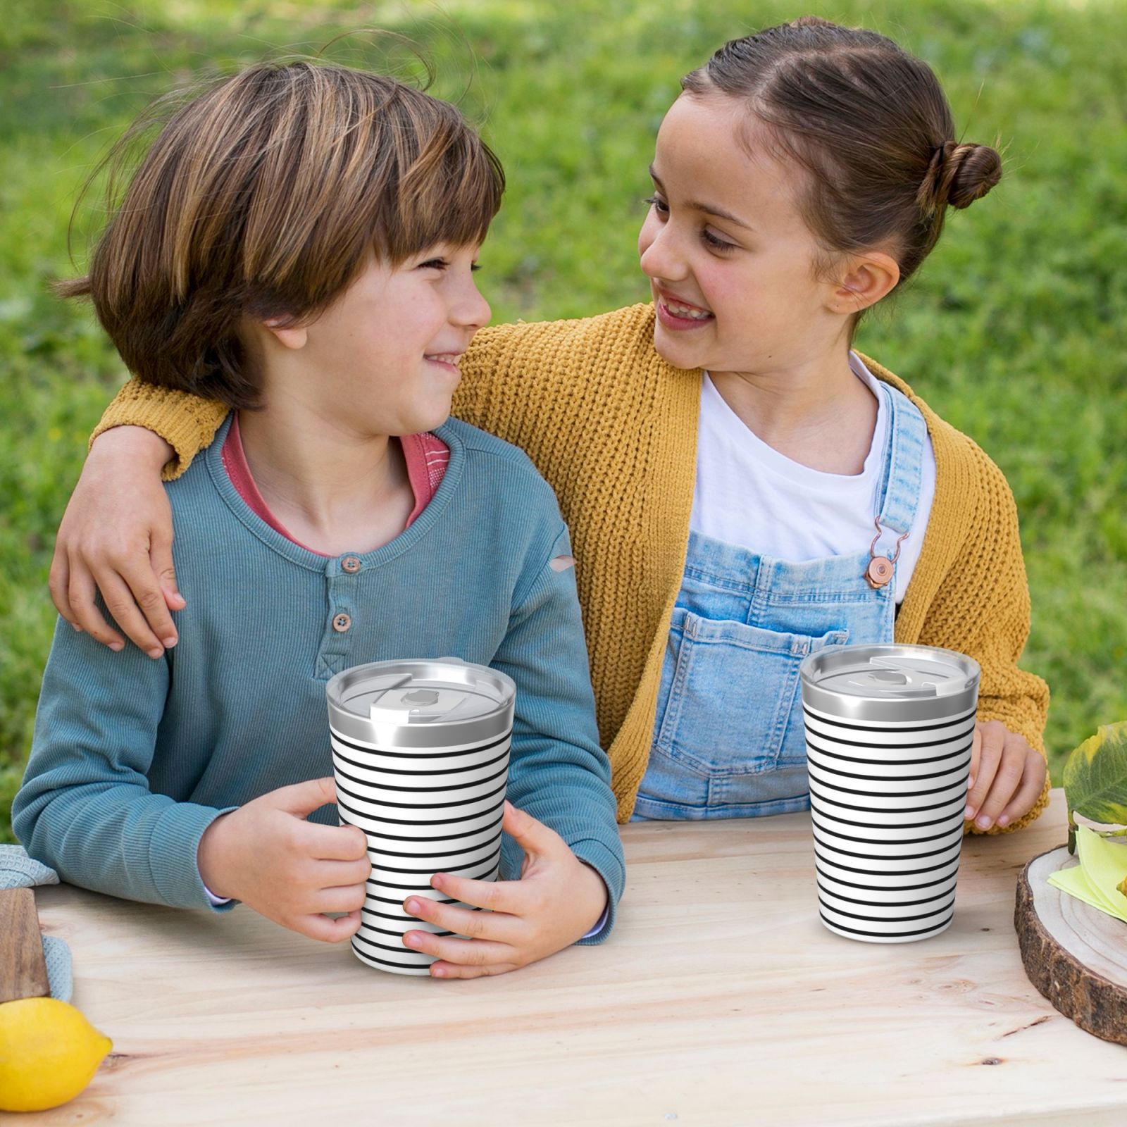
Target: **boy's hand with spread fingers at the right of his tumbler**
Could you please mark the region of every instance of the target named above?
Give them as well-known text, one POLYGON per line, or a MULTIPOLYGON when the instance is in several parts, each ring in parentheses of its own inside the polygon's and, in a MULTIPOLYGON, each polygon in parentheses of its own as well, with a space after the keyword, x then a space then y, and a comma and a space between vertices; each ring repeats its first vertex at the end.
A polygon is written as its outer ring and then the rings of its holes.
POLYGON ((603 878, 584 864, 567 842, 543 823, 505 804, 502 828, 524 850, 520 880, 467 880, 435 873, 431 885, 464 904, 438 904, 425 896, 409 896, 403 906, 419 920, 472 939, 409 931, 405 946, 435 955, 435 978, 477 978, 547 958, 582 939, 606 906, 603 878))

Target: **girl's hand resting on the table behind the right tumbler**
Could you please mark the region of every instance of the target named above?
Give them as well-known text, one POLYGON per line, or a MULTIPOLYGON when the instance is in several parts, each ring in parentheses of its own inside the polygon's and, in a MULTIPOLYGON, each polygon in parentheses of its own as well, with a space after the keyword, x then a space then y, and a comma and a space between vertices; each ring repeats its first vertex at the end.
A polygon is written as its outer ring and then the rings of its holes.
POLYGON ((1008 826, 1033 808, 1045 786, 1045 756, 1000 720, 979 720, 970 747, 965 817, 976 829, 1008 826))

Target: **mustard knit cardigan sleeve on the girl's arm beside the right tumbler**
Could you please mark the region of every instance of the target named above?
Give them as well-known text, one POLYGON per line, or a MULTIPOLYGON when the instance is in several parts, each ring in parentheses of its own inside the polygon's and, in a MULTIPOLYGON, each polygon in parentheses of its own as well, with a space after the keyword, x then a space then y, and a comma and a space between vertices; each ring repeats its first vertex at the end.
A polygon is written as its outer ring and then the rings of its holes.
MULTIPOLYGON (((1048 685, 1018 667, 1030 618, 1018 511, 1002 471, 982 450, 969 445, 980 488, 976 504, 965 511, 967 535, 935 593, 920 641, 974 657, 982 666, 978 719, 1000 720, 1044 755, 1048 685)), ((1046 775, 1033 808, 1001 832, 1032 822, 1048 802, 1048 790, 1046 775)))

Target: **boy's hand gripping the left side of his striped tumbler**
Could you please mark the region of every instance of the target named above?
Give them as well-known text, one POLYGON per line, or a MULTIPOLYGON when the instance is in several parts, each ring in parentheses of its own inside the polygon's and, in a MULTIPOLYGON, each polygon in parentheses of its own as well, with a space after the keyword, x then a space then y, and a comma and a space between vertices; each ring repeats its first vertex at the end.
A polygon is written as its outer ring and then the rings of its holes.
POLYGON ((312 779, 221 815, 199 840, 204 884, 310 939, 348 939, 360 928, 364 881, 372 872, 367 840, 356 826, 305 820, 336 800, 332 779, 312 779), (322 912, 348 915, 330 920, 322 912))

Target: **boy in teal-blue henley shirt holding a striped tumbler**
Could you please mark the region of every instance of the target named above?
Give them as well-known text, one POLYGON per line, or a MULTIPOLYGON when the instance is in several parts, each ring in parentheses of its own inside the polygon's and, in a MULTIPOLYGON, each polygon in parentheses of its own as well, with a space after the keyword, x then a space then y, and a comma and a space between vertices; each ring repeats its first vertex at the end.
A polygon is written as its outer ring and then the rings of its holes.
POLYGON ((446 421, 489 318, 471 272, 503 186, 452 106, 300 62, 213 86, 141 162, 64 290, 92 295, 149 387, 215 397, 224 418, 168 488, 201 603, 177 647, 149 660, 55 631, 12 825, 63 879, 178 907, 242 899, 347 938, 371 863, 319 778, 326 682, 453 655, 517 684, 513 880, 474 879, 480 858, 436 876, 437 899, 405 903, 434 931, 402 942, 437 957, 433 975, 471 977, 601 916, 606 934, 623 864, 567 530, 520 451, 446 421))

